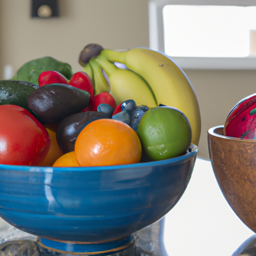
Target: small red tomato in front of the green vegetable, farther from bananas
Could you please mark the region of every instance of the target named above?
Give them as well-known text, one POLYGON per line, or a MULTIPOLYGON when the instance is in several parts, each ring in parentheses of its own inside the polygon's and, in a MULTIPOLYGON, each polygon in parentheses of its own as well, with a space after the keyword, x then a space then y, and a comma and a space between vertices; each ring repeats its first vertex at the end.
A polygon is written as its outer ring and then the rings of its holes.
POLYGON ((54 70, 43 71, 39 74, 38 76, 39 87, 45 84, 51 84, 51 83, 67 84, 67 79, 63 74, 54 70))

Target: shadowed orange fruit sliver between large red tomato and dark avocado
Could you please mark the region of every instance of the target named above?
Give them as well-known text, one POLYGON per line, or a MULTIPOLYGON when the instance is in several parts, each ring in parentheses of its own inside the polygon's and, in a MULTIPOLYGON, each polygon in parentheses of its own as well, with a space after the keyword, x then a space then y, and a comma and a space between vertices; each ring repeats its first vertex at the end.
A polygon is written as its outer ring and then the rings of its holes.
POLYGON ((47 128, 46 126, 44 126, 45 129, 47 130, 47 132, 49 133, 50 136, 50 148, 47 152, 47 154, 45 155, 45 157, 43 158, 43 160, 37 164, 39 166, 51 166, 54 161, 61 156, 63 153, 60 150, 57 140, 56 140, 56 132, 47 128))

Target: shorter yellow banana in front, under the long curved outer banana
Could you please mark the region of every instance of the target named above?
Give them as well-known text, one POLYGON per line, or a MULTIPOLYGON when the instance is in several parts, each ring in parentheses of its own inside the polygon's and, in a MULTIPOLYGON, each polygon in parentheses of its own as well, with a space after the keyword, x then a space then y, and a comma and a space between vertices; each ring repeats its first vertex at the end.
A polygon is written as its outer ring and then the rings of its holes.
POLYGON ((157 106, 151 88, 141 76, 126 68, 118 68, 102 55, 96 56, 95 61, 108 76, 116 104, 133 99, 136 105, 157 106))

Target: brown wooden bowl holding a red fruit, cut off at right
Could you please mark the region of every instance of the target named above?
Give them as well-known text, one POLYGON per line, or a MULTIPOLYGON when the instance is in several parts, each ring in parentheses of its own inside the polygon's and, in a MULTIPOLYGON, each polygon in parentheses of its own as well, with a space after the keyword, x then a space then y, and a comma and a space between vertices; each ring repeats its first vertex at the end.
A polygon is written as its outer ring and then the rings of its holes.
POLYGON ((208 148, 218 185, 235 214, 256 232, 256 140, 223 135, 223 126, 208 130, 208 148))

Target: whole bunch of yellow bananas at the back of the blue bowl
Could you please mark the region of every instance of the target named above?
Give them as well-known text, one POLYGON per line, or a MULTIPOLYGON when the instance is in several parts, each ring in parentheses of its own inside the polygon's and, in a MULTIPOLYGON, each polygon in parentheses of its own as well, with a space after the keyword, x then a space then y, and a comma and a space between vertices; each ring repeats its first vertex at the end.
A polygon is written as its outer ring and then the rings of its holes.
POLYGON ((190 122, 192 143, 198 145, 201 120, 197 98, 187 76, 169 56, 145 47, 121 52, 100 47, 83 66, 95 94, 110 92, 117 104, 133 99, 137 105, 178 108, 190 122))

